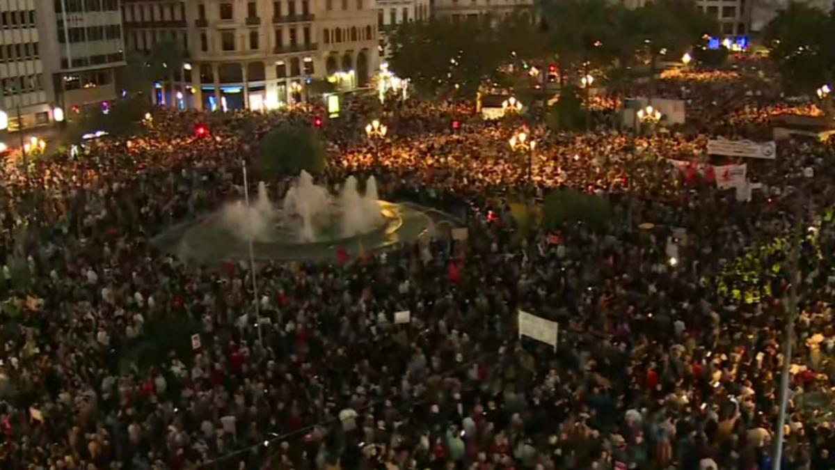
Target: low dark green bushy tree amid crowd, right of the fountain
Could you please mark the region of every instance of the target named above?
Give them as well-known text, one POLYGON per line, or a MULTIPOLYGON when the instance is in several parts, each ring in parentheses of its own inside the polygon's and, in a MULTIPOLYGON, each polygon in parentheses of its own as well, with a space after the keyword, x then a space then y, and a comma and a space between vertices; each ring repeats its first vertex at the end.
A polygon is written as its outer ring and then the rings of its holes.
POLYGON ((612 217, 609 201, 575 189, 559 188, 549 192, 543 203, 543 225, 549 230, 573 222, 603 228, 612 217))

